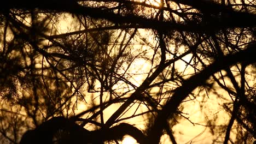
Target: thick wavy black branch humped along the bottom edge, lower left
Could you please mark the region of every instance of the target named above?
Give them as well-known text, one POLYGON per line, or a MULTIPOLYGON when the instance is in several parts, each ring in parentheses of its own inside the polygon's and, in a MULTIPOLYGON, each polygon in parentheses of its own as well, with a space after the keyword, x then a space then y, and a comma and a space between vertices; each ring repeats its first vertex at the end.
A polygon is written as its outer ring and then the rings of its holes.
POLYGON ((130 135, 139 143, 145 143, 146 137, 141 130, 130 124, 121 123, 112 128, 89 131, 64 117, 53 117, 42 123, 34 130, 28 130, 22 136, 20 144, 27 143, 53 143, 54 135, 58 130, 68 131, 69 136, 64 137, 67 143, 103 143, 107 140, 121 140, 130 135))

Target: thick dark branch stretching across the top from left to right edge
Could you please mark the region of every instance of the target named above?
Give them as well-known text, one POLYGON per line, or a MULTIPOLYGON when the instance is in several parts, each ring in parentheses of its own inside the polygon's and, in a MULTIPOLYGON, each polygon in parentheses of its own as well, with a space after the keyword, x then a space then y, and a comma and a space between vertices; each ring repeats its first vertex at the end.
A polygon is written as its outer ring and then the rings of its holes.
POLYGON ((156 19, 147 19, 142 16, 136 15, 119 15, 115 14, 107 9, 101 8, 91 8, 85 7, 75 3, 75 1, 46 1, 44 3, 40 3, 38 1, 18 1, 11 0, 7 1, 4 7, 1 7, 3 10, 8 10, 11 8, 18 9, 34 9, 39 8, 42 10, 55 10, 59 12, 68 12, 78 15, 87 15, 90 17, 94 17, 97 19, 107 19, 113 21, 115 23, 119 23, 119 25, 129 24, 129 26, 133 28, 150 28, 150 29, 159 29, 162 31, 166 30, 177 30, 177 31, 189 31, 189 32, 200 32, 204 33, 209 30, 218 31, 221 28, 234 28, 234 27, 255 27, 256 15, 249 13, 242 13, 234 10, 226 10, 220 4, 216 3, 199 3, 199 2, 190 2, 190 1, 176 1, 177 3, 183 3, 187 5, 191 5, 197 9, 201 9, 204 13, 212 13, 209 9, 218 8, 214 10, 214 13, 219 13, 221 11, 227 12, 229 15, 225 15, 225 17, 207 17, 210 21, 202 23, 176 23, 172 21, 159 21, 156 19), (213 5, 211 5, 213 4, 213 5))

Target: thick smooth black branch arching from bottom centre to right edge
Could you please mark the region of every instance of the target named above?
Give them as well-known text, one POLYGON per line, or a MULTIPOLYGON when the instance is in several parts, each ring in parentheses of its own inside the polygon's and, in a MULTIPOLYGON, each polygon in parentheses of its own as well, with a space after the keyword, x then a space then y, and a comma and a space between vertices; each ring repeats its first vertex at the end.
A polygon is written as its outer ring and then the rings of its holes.
POLYGON ((159 143, 162 130, 168 119, 172 117, 176 112, 177 107, 196 87, 203 85, 205 81, 217 71, 230 67, 237 62, 245 62, 247 64, 256 62, 256 59, 254 58, 255 55, 256 43, 254 42, 253 44, 250 44, 246 50, 224 56, 202 70, 201 73, 191 76, 186 80, 183 86, 176 89, 171 99, 167 101, 166 105, 159 112, 152 129, 149 131, 148 142, 159 143))

